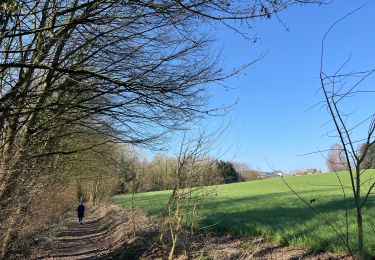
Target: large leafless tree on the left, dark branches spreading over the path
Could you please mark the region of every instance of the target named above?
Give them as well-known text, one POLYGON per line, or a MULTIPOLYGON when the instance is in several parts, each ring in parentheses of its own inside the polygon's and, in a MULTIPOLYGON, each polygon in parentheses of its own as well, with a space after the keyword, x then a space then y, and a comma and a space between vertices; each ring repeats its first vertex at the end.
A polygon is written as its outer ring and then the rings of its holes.
POLYGON ((321 2, 2 1, 0 222, 7 223, 0 234, 2 256, 26 206, 25 181, 32 170, 38 172, 39 158, 114 142, 155 142, 214 113, 205 106, 208 84, 238 70, 223 73, 210 50, 212 39, 199 24, 218 22, 240 32, 252 19, 321 2), (97 142, 67 149, 63 140, 71 135, 97 142))

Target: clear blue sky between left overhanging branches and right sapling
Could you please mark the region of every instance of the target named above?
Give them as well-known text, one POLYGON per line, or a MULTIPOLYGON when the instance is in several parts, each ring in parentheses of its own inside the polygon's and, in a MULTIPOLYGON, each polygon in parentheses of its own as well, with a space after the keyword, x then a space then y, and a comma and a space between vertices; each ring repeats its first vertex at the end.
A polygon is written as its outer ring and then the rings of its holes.
MULTIPOLYGON (((351 53, 348 70, 367 69, 375 67, 375 1, 335 0, 323 6, 295 6, 279 14, 289 30, 276 17, 255 21, 253 28, 246 31, 260 38, 255 45, 228 29, 217 30, 217 47, 223 48, 223 63, 228 69, 267 52, 264 59, 243 74, 227 80, 226 85, 233 89, 210 90, 212 106, 238 100, 224 119, 230 126, 220 143, 221 152, 226 151, 223 159, 247 163, 264 171, 271 170, 267 160, 283 171, 326 169, 320 154, 297 156, 328 149, 338 141, 325 135, 333 128, 331 124, 325 125, 329 120, 326 110, 304 112, 323 98, 319 90, 319 69, 320 44, 325 31, 364 3, 367 4, 364 8, 341 22, 330 34, 325 64, 327 71, 332 72, 351 53)), ((370 83, 371 79, 365 84, 370 83)), ((347 104, 349 110, 357 109, 350 118, 352 124, 374 108, 371 99, 374 97, 347 104)), ((208 122, 214 129, 223 123, 223 118, 211 118, 208 122)))

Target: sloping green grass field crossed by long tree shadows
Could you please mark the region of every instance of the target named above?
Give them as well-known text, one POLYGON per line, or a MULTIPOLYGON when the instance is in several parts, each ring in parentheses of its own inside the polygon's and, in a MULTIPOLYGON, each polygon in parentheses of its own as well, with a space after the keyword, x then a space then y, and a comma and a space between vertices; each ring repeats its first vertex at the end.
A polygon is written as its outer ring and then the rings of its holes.
MULTIPOLYGON (((348 174, 343 172, 347 197, 351 198, 348 174)), ((375 170, 367 171, 364 179, 375 177, 375 170)), ((285 181, 323 212, 320 217, 306 206, 280 178, 241 182, 209 187, 212 193, 200 207, 199 227, 234 235, 265 235, 283 245, 308 247, 312 250, 345 251, 339 237, 325 221, 345 231, 345 203, 335 174, 285 177, 285 181)), ((368 187, 366 185, 365 187, 368 187)), ((135 205, 150 215, 165 207, 170 191, 147 192, 135 196, 135 205)), ((375 252, 375 199, 370 197, 364 208, 366 251, 375 252)), ((117 195, 113 201, 130 207, 130 195, 117 195)), ((347 201, 349 232, 352 243, 356 237, 354 202, 347 201)))

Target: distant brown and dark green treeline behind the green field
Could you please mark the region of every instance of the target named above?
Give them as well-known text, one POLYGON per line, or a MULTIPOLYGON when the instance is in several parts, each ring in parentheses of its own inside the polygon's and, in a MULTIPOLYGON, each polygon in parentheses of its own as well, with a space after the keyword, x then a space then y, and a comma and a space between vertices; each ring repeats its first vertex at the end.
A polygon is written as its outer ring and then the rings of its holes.
MULTIPOLYGON (((178 159, 157 155, 152 161, 138 157, 122 158, 120 163, 119 193, 146 192, 172 189, 177 181, 178 159)), ((195 162, 185 186, 209 186, 224 183, 261 179, 259 171, 246 164, 213 158, 195 162)))

